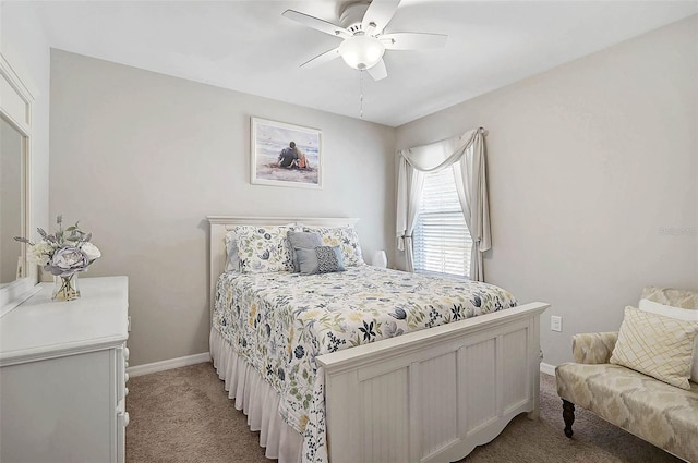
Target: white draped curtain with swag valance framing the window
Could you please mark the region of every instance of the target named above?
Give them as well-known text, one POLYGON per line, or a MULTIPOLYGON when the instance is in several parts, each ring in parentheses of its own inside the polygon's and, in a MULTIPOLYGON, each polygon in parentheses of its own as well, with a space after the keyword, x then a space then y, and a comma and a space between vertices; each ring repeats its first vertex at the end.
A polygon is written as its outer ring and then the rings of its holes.
POLYGON ((482 253, 492 243, 483 132, 476 129, 453 138, 399 151, 396 232, 398 249, 406 252, 408 271, 414 271, 411 237, 424 172, 453 166, 460 207, 473 241, 470 279, 484 281, 482 253))

